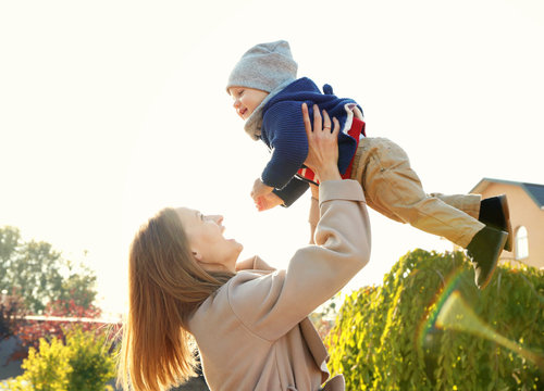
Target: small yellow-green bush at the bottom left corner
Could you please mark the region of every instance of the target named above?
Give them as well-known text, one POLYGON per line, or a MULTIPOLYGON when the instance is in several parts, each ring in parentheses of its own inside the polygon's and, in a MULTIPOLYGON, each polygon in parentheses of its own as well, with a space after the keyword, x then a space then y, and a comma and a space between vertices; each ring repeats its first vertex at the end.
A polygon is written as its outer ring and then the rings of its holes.
POLYGON ((65 344, 57 338, 40 339, 39 350, 30 348, 22 365, 24 374, 10 387, 14 391, 112 390, 107 384, 115 375, 110 346, 104 335, 81 328, 66 335, 65 344))

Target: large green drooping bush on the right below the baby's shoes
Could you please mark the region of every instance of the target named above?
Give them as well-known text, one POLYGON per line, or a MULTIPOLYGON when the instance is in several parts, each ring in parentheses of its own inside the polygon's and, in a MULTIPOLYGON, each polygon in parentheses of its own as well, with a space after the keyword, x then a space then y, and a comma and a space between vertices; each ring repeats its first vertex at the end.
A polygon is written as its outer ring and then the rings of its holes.
POLYGON ((460 252, 406 254, 383 286, 344 302, 325 341, 331 370, 344 374, 348 390, 544 389, 544 272, 502 265, 483 291, 473 278, 460 252), (454 318, 471 327, 437 326, 452 292, 466 303, 454 318), (516 352, 487 326, 516 342, 516 352))

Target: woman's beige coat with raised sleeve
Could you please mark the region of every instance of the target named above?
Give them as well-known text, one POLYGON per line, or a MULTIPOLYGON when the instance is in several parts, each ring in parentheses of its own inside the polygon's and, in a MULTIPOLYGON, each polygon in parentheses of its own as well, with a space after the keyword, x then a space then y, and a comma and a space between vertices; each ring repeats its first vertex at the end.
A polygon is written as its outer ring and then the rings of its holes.
MULTIPOLYGON (((286 270, 259 257, 208 298, 189 320, 211 390, 316 391, 329 378, 326 353, 307 316, 341 290, 370 257, 360 185, 320 186, 317 245, 298 250, 286 270)), ((325 390, 344 390, 334 377, 325 390)))

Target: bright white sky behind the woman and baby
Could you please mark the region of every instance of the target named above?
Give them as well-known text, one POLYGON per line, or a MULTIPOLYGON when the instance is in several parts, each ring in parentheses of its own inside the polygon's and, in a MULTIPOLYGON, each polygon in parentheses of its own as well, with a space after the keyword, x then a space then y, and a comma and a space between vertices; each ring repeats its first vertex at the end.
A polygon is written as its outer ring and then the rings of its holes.
MULTIPOLYGON (((544 3, 412 1, 0 2, 0 225, 97 272, 124 311, 126 254, 163 206, 225 216, 226 236, 283 267, 307 243, 309 194, 258 213, 268 159, 224 86, 251 46, 286 39, 299 76, 363 108, 429 192, 483 177, 544 184, 544 3)), ((371 214, 380 283, 415 248, 446 240, 371 214)))

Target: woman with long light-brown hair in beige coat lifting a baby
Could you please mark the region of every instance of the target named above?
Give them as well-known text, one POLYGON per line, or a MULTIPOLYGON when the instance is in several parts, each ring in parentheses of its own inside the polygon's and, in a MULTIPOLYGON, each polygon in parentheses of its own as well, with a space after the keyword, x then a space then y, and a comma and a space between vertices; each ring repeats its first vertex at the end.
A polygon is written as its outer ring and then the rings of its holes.
MULTIPOLYGON (((136 235, 129 255, 129 314, 123 333, 124 389, 161 390, 193 374, 196 340, 211 390, 320 390, 327 353, 307 316, 333 297, 370 256, 361 187, 341 180, 334 118, 302 105, 306 165, 321 186, 312 198, 314 245, 285 270, 259 257, 238 262, 221 216, 165 209, 136 235), (319 209, 319 211, 318 211, 319 209)), ((324 390, 344 390, 336 376, 324 390)))

